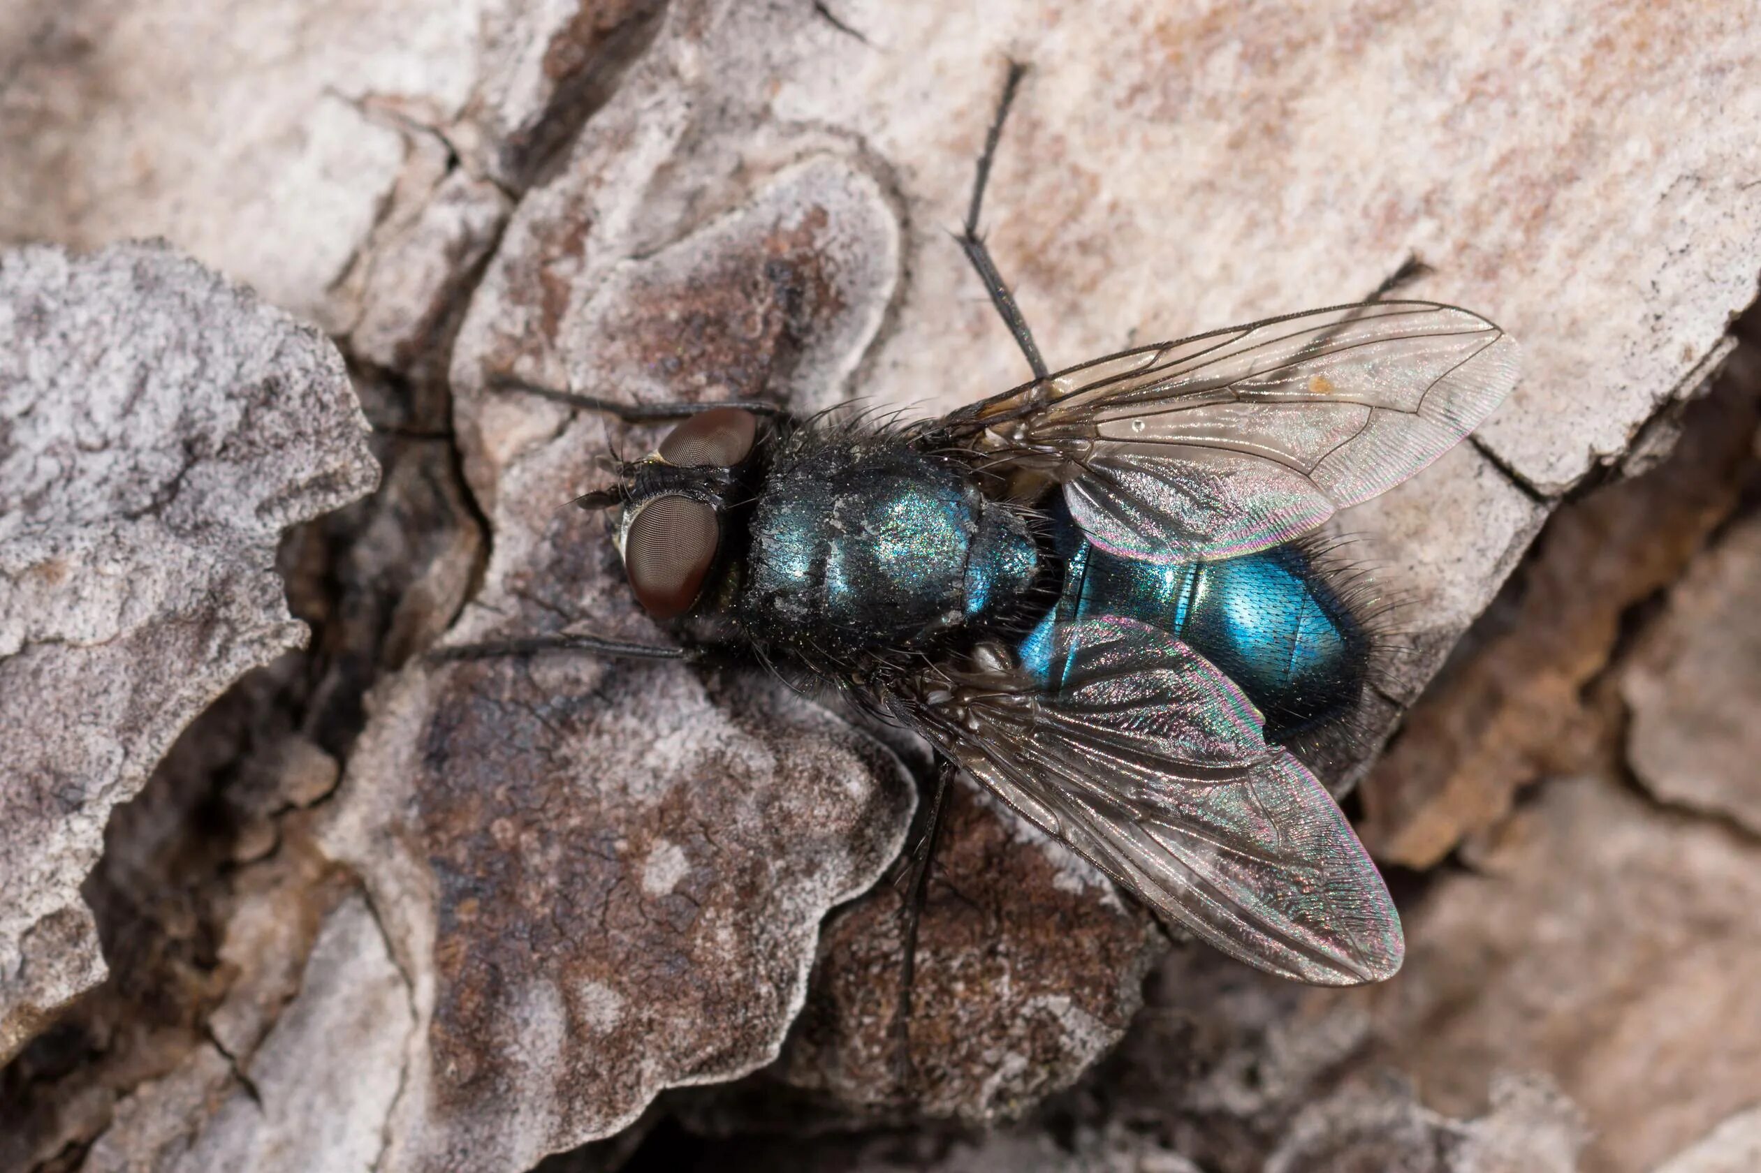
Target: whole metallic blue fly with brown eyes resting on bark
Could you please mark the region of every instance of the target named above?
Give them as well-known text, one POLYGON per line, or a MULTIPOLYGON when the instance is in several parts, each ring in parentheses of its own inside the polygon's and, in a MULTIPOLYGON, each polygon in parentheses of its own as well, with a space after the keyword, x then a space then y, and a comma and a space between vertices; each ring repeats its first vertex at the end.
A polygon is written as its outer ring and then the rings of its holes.
POLYGON ((796 419, 757 402, 680 419, 583 505, 615 511, 673 646, 585 634, 449 648, 754 659, 844 690, 937 750, 907 900, 965 771, 1219 949, 1351 985, 1402 960, 1388 888, 1291 752, 1347 719, 1370 636, 1300 539, 1425 468, 1516 382, 1516 345, 1426 301, 1275 317, 1048 372, 977 236, 962 240, 1034 377, 940 419, 796 419))

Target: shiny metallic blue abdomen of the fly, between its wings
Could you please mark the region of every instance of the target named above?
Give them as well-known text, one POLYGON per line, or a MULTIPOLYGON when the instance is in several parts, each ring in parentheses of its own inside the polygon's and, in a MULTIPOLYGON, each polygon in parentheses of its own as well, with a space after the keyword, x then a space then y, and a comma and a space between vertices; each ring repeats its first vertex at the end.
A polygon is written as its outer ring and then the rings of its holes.
POLYGON ((1079 537, 1057 608, 1021 643, 1021 662, 1058 689, 1051 625, 1122 615, 1160 627, 1220 668, 1259 706, 1268 738, 1300 736, 1347 715, 1368 673, 1368 638, 1301 546, 1220 562, 1153 565, 1079 537))

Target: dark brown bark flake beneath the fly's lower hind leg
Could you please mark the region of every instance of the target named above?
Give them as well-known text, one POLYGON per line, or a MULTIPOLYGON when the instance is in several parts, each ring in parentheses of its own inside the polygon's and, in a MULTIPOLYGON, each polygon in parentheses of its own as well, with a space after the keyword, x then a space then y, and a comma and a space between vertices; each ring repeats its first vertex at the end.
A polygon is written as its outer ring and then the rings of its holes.
POLYGON ((770 1073, 870 1118, 1021 1115, 1111 1050, 1166 948, 1150 912, 1087 861, 958 786, 919 928, 902 1083, 900 900, 880 888, 831 923, 808 1009, 770 1073))

